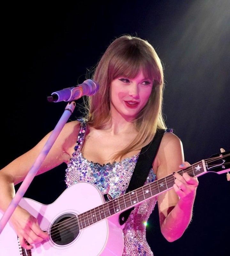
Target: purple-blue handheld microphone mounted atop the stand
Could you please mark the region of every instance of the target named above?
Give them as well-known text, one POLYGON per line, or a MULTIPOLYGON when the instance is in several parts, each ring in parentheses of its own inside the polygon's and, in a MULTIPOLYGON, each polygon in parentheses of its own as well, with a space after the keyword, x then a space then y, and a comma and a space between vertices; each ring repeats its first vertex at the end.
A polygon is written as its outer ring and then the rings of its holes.
POLYGON ((73 101, 81 98, 83 95, 92 96, 98 91, 98 89, 99 84, 88 79, 79 85, 51 93, 51 96, 48 96, 47 100, 49 102, 73 101))

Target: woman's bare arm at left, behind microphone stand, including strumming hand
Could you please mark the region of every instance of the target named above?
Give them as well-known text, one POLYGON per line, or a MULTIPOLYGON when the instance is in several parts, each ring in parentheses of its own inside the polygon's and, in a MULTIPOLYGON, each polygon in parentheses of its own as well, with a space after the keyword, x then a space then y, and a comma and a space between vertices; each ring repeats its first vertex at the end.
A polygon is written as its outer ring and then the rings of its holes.
MULTIPOLYGON (((78 130, 79 122, 77 121, 65 124, 36 175, 42 174, 63 162, 67 163, 69 161, 70 153, 68 152, 70 152, 70 150, 68 149, 73 149, 78 130)), ((50 137, 50 134, 51 132, 34 148, 13 160, 0 171, 0 209, 2 211, 7 209, 15 195, 14 185, 24 180, 28 171, 34 164, 35 159, 50 137)), ((13 212, 10 221, 19 236, 22 247, 26 249, 31 249, 32 246, 28 246, 25 243, 25 239, 31 244, 41 242, 43 239, 47 238, 47 234, 40 229, 37 220, 19 205, 13 212)))

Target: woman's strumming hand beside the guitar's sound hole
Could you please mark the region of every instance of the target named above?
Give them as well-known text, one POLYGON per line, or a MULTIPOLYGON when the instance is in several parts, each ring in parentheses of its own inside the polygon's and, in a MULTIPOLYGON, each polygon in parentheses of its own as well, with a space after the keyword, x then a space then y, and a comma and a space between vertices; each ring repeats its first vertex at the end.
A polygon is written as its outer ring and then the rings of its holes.
POLYGON ((14 226, 14 230, 19 237, 21 246, 27 250, 33 248, 31 244, 40 243, 44 239, 49 238, 49 235, 42 231, 38 225, 37 219, 20 206, 13 212, 10 222, 14 226), (28 245, 25 240, 30 245, 28 245))

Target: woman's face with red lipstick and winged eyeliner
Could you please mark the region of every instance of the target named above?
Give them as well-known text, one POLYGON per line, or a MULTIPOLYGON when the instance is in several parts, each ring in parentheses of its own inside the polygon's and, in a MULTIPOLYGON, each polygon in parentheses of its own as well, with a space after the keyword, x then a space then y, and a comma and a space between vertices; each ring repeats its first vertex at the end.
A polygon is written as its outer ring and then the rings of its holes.
POLYGON ((133 79, 118 77, 111 82, 111 114, 119 113, 125 119, 134 118, 146 105, 153 81, 144 77, 142 71, 133 79))

